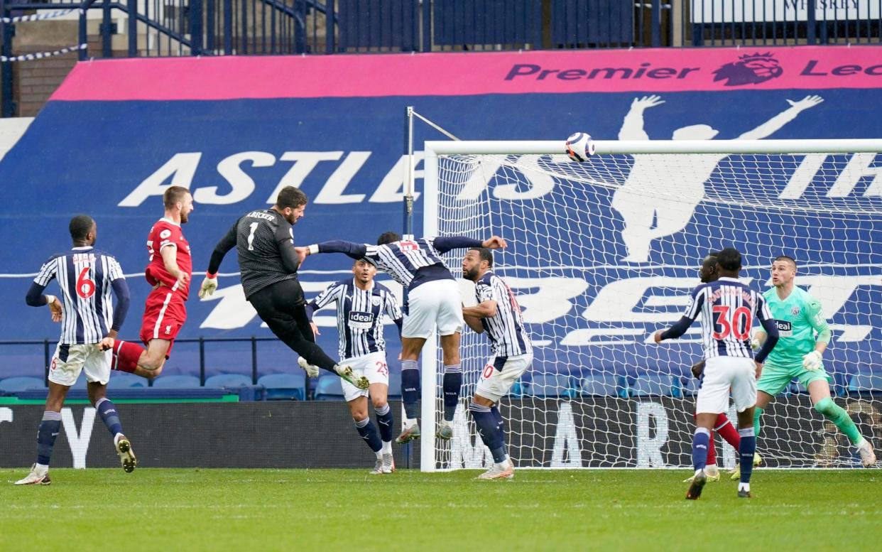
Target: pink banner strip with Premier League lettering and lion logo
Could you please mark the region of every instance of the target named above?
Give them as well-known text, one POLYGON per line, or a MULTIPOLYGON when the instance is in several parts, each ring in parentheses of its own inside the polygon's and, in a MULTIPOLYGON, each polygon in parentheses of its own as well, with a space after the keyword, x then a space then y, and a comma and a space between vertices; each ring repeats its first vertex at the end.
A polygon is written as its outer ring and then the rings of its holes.
POLYGON ((79 63, 52 100, 823 90, 880 84, 878 46, 178 57, 79 63))

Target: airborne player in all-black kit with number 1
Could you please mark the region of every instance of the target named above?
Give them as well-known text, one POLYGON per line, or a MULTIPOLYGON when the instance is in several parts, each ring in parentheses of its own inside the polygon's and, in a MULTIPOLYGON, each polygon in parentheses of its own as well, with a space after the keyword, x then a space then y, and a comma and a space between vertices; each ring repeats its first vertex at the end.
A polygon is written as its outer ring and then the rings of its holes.
POLYGON ((217 289, 221 261, 227 251, 235 247, 245 299, 276 337, 305 359, 301 366, 307 373, 318 376, 318 371, 310 372, 311 364, 337 374, 358 389, 367 389, 366 377, 356 377, 350 367, 334 362, 316 345, 312 335, 303 288, 297 280, 297 268, 303 259, 294 248, 292 226, 303 218, 306 204, 303 191, 286 186, 269 209, 250 211, 239 217, 214 247, 199 297, 212 295, 217 289))

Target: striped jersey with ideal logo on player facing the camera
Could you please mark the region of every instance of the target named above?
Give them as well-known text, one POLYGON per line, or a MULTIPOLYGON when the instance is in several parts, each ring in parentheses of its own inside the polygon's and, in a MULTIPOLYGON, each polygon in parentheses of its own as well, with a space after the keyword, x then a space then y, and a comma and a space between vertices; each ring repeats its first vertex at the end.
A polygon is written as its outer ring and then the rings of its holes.
POLYGON ((337 303, 337 331, 340 333, 340 359, 370 353, 385 353, 383 317, 400 320, 403 315, 388 287, 373 282, 370 289, 355 286, 355 280, 340 280, 313 299, 307 312, 337 303))

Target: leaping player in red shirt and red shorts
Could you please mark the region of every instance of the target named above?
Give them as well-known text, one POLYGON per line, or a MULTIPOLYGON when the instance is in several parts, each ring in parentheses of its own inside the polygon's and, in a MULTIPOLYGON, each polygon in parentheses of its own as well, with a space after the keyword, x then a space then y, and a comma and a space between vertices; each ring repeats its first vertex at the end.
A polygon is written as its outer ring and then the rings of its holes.
POLYGON ((147 296, 139 336, 147 348, 121 339, 113 345, 113 369, 148 378, 160 375, 177 332, 187 319, 184 303, 193 272, 190 244, 181 231, 193 212, 190 191, 171 186, 162 194, 162 203, 165 216, 156 221, 147 236, 150 264, 144 276, 153 291, 147 296))

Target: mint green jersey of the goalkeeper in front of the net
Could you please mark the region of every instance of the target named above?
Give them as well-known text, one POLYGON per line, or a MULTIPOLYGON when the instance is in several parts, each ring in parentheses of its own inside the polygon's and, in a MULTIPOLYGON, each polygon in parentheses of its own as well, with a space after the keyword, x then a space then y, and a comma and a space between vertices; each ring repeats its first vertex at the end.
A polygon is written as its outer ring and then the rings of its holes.
POLYGON ((774 287, 767 290, 763 297, 781 335, 766 362, 781 368, 802 366, 804 355, 815 348, 815 332, 821 333, 827 328, 821 304, 796 286, 787 299, 781 299, 774 287))

